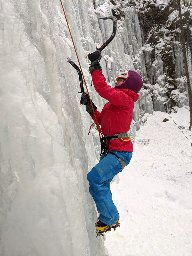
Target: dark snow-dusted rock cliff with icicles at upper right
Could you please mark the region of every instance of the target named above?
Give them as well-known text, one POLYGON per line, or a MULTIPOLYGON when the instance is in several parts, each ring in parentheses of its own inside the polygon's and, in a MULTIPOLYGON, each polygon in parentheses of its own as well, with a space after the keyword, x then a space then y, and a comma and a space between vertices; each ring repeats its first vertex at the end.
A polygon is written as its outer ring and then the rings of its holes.
MULTIPOLYGON (((145 84, 152 92, 154 110, 171 110, 173 107, 188 105, 186 74, 181 48, 179 26, 185 31, 189 72, 192 53, 192 7, 183 2, 182 20, 179 20, 177 1, 111 1, 113 15, 119 20, 127 20, 126 7, 135 8, 139 17, 142 37, 142 58, 145 61, 145 84), (159 102, 161 104, 159 104, 159 102)), ((138 40, 137 40, 138 41, 138 40)), ((135 50, 132 48, 132 51, 135 50)), ((141 54, 140 54, 141 55, 141 54)), ((135 56, 134 56, 135 57, 135 56)), ((139 65, 135 67, 139 69, 139 65)))

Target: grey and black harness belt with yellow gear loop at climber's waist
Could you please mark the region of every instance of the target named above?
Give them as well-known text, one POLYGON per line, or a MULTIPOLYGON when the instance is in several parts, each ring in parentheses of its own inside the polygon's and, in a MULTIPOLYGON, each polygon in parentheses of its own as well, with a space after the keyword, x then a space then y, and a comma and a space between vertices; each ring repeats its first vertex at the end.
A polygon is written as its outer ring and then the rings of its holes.
POLYGON ((100 155, 104 154, 106 156, 109 153, 111 153, 109 151, 110 140, 116 140, 116 139, 120 139, 122 141, 128 142, 131 138, 128 136, 127 132, 122 132, 122 133, 119 133, 119 134, 116 134, 113 136, 106 135, 106 136, 100 138, 100 142, 101 142, 101 154, 100 155), (128 138, 128 140, 124 140, 126 138, 128 138))

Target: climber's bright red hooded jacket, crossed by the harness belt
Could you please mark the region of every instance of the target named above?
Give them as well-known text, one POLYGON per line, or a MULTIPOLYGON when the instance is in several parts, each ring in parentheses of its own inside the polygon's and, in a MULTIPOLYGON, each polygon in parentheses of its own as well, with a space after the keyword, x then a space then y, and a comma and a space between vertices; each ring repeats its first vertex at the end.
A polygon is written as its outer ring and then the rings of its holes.
MULTIPOLYGON (((95 111, 103 135, 113 136, 129 131, 134 102, 137 101, 139 95, 129 89, 111 88, 107 85, 106 79, 100 70, 92 72, 92 80, 99 95, 109 101, 104 105, 101 113, 98 110, 95 111)), ((94 115, 90 114, 90 116, 96 121, 94 115)), ((109 150, 133 152, 133 144, 131 140, 128 142, 121 139, 110 140, 109 150)))

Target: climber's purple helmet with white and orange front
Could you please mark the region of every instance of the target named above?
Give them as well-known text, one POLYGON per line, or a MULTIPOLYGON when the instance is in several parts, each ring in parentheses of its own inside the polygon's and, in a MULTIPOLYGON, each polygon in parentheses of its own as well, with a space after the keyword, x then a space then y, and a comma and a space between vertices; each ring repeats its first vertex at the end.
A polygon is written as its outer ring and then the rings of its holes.
MULTIPOLYGON (((127 70, 123 72, 122 75, 124 75, 126 72, 128 72, 128 75, 125 82, 123 82, 121 85, 116 86, 115 88, 130 89, 131 91, 138 93, 138 91, 140 91, 141 87, 143 86, 141 76, 133 70, 127 70)), ((116 80, 118 80, 119 78, 123 78, 122 75, 119 75, 116 80)))

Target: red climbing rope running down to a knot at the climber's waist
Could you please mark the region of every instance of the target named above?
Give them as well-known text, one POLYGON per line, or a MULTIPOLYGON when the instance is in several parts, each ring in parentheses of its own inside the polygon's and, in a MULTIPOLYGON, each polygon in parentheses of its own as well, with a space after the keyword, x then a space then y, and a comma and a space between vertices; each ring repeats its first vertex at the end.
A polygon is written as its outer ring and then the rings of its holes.
MULTIPOLYGON (((88 88, 87 88, 87 84, 86 84, 86 82, 85 82, 85 78, 84 78, 83 71, 82 71, 82 68, 81 68, 81 64, 80 64, 80 61, 79 61, 79 57, 78 57, 78 54, 77 54, 77 51, 76 51, 75 43, 74 43, 74 41, 73 41, 73 37, 72 37, 72 34, 71 34, 71 30, 70 30, 70 27, 69 27, 69 23, 68 23, 68 21, 67 21, 67 16, 66 16, 66 14, 65 14, 65 9, 64 9, 64 7, 63 7, 62 0, 60 0, 60 2, 61 2, 62 9, 63 9, 63 13, 64 13, 64 15, 65 15, 65 19, 66 19, 66 22, 67 22, 67 26, 68 26, 68 29, 69 29, 69 33, 70 33, 70 36, 71 36, 71 40, 72 40, 72 43, 73 43, 73 46, 74 46, 74 49, 75 49, 75 53, 76 53, 76 56, 77 56, 77 60, 78 60, 78 62, 79 62, 79 66, 80 66, 80 69, 81 69, 81 73, 82 73, 82 76, 83 76, 83 80, 84 80, 84 83, 85 83, 85 87, 86 87, 86 89, 87 89, 87 94, 89 95, 89 91, 88 91, 88 88)), ((92 107, 92 109, 93 109, 93 104, 92 104, 92 102, 91 102, 91 97, 90 97, 90 95, 89 95, 89 100, 90 100, 90 103, 91 103, 91 107, 92 107)), ((96 118, 94 109, 93 109, 93 115, 94 115, 95 120, 96 120, 96 122, 93 123, 93 124, 96 124, 97 130, 98 130, 98 132, 99 132, 99 138, 101 138, 101 136, 103 137, 103 134, 102 134, 100 125, 99 125, 99 123, 97 122, 97 118, 96 118)), ((92 124, 92 125, 93 125, 93 124, 92 124)), ((90 130, 91 130, 92 125, 91 125, 90 128, 89 128, 89 133, 90 133, 90 130)), ((89 133, 88 133, 88 135, 89 135, 89 133)))

